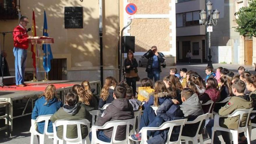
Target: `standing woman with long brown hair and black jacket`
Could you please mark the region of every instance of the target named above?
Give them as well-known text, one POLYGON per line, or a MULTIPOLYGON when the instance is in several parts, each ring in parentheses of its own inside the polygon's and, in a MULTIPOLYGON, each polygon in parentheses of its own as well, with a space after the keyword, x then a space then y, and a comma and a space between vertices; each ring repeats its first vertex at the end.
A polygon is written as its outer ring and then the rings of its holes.
POLYGON ((131 50, 127 53, 127 58, 124 62, 125 66, 125 79, 129 86, 132 87, 133 95, 136 95, 136 81, 138 79, 138 63, 134 58, 133 52, 131 50))

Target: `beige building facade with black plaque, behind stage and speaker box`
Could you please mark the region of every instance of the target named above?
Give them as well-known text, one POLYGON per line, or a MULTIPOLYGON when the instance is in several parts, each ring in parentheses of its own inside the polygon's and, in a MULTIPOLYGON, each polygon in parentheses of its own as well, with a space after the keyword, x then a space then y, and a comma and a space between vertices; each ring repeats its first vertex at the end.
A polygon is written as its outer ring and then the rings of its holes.
MULTIPOLYGON (((125 29, 124 35, 135 36, 135 56, 143 55, 152 45, 163 51, 168 59, 168 65, 176 62, 176 29, 175 29, 175 0, 103 0, 103 75, 114 76, 118 79, 118 47, 120 33, 129 22, 125 7, 128 3, 137 5, 137 13, 133 22, 125 29)), ((100 44, 99 44, 99 0, 0 0, 1 10, 8 8, 29 17, 32 28, 32 10, 35 10, 37 35, 42 35, 43 10, 47 13, 49 37, 54 38, 51 45, 54 60, 52 70, 56 71, 58 80, 99 80, 100 79, 100 44), (83 28, 65 29, 64 8, 83 8, 83 28)), ((3 13, 3 11, 0 11, 3 13)), ((17 13, 8 18, 0 18, 0 31, 12 31, 18 24, 17 13)), ((31 33, 29 33, 31 35, 31 33)), ((3 38, 0 37, 1 47, 3 38)), ((42 68, 42 48, 39 46, 40 69, 39 79, 44 77, 42 68)), ((14 75, 14 56, 12 34, 5 37, 5 51, 11 75, 14 75)), ((33 73, 33 61, 30 46, 28 49, 26 72, 33 73)), ((49 72, 49 75, 51 73, 49 72)), ((55 76, 55 74, 53 74, 55 76)))

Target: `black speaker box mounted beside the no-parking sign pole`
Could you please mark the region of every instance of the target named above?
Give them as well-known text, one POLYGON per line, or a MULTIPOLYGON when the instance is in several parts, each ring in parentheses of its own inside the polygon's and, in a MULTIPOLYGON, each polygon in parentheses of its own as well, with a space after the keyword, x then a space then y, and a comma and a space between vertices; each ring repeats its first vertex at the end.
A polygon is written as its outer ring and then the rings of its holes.
POLYGON ((135 37, 123 36, 122 37, 122 53, 127 53, 129 50, 135 52, 135 37))

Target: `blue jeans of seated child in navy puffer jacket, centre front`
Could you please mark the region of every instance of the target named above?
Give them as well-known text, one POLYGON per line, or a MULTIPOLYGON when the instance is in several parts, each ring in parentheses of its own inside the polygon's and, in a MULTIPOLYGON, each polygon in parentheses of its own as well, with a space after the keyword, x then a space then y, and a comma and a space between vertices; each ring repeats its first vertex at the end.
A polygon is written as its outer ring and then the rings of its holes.
POLYGON ((155 111, 151 106, 145 106, 141 116, 140 129, 147 127, 155 119, 155 111))

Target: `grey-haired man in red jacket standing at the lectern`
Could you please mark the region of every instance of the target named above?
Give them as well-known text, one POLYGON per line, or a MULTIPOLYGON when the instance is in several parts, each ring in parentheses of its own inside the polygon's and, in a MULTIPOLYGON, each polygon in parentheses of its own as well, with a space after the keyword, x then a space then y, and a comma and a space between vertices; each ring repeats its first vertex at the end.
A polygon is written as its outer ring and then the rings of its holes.
POLYGON ((15 56, 15 77, 16 86, 26 86, 24 84, 24 74, 27 60, 27 49, 29 47, 26 26, 29 23, 28 17, 22 16, 19 19, 19 25, 14 28, 13 31, 13 41, 14 48, 13 54, 15 56))

